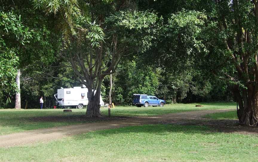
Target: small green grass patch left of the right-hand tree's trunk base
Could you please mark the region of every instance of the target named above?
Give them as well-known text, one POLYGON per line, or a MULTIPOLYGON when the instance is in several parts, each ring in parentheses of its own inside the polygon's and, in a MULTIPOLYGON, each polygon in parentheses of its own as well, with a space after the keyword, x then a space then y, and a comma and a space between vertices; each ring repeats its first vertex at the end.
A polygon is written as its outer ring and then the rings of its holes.
POLYGON ((216 120, 236 120, 238 119, 236 110, 235 111, 228 111, 223 113, 214 113, 214 114, 207 114, 204 117, 209 119, 216 119, 216 120))

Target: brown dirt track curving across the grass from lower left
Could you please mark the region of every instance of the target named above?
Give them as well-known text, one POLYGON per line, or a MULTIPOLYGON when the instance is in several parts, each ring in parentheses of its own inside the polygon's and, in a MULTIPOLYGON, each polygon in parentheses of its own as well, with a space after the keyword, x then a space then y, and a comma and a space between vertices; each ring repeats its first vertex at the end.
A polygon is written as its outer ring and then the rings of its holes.
MULTIPOLYGON (((108 122, 97 122, 81 125, 72 125, 72 126, 62 126, 49 129, 38 129, 32 131, 26 131, 21 133, 14 133, 10 135, 1 135, 0 136, 0 147, 12 147, 12 146, 21 146, 24 144, 44 142, 49 140, 54 140, 62 138, 69 135, 102 130, 102 129, 112 129, 120 128, 125 126, 136 126, 143 124, 198 124, 201 125, 205 119, 201 117, 205 114, 211 114, 216 112, 225 112, 232 111, 230 110, 200 110, 200 111, 190 111, 174 114, 165 114, 153 117, 132 117, 128 119, 120 119, 115 121, 108 122), (199 122, 199 123, 198 123, 199 122)), ((210 120, 209 120, 210 121, 210 120)), ((234 123, 237 121, 231 121, 234 123)), ((206 124, 209 124, 209 122, 206 124)), ((225 124, 225 123, 224 123, 225 124)), ((223 123, 222 123, 223 125, 223 123)))

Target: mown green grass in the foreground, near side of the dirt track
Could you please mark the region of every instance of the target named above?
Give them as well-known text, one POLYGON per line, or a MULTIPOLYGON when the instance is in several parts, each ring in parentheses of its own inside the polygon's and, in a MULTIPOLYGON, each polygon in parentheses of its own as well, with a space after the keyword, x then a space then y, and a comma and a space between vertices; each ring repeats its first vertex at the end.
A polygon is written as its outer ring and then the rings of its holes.
POLYGON ((205 126, 145 125, 0 148, 0 161, 257 161, 258 136, 205 126))

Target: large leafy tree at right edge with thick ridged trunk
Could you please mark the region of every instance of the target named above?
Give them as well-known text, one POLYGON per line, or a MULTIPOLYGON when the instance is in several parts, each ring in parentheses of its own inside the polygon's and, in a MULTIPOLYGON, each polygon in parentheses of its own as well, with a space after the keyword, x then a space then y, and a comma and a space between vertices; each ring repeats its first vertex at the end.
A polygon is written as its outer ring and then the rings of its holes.
POLYGON ((198 1, 193 6, 197 11, 171 16, 167 31, 176 38, 171 45, 180 42, 187 60, 227 79, 239 103, 239 122, 257 126, 257 1, 198 1))

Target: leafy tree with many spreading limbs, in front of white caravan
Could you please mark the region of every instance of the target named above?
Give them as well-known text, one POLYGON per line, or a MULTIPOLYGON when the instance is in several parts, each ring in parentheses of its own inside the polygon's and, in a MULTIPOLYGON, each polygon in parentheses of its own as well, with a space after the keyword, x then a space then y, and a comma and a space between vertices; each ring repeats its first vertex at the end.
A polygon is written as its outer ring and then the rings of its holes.
POLYGON ((60 56, 70 62, 76 78, 88 88, 86 116, 98 117, 101 115, 99 95, 104 77, 115 72, 123 55, 150 48, 154 39, 150 33, 155 32, 158 17, 149 12, 125 12, 128 10, 125 6, 130 4, 126 1, 122 4, 119 1, 80 2, 35 1, 49 14, 58 13, 58 10, 66 12, 69 6, 72 7, 67 13, 69 16, 65 17, 69 18, 67 24, 72 32, 68 39, 64 38, 66 42, 60 56), (100 7, 107 10, 101 11, 100 7))

